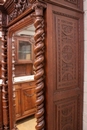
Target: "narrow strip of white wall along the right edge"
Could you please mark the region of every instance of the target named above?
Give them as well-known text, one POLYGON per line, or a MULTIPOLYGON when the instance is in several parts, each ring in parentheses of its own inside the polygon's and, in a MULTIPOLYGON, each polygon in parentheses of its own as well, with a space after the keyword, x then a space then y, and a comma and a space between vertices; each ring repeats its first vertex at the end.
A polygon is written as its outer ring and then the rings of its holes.
POLYGON ((87 130, 87 0, 84 0, 84 109, 83 130, 87 130))

